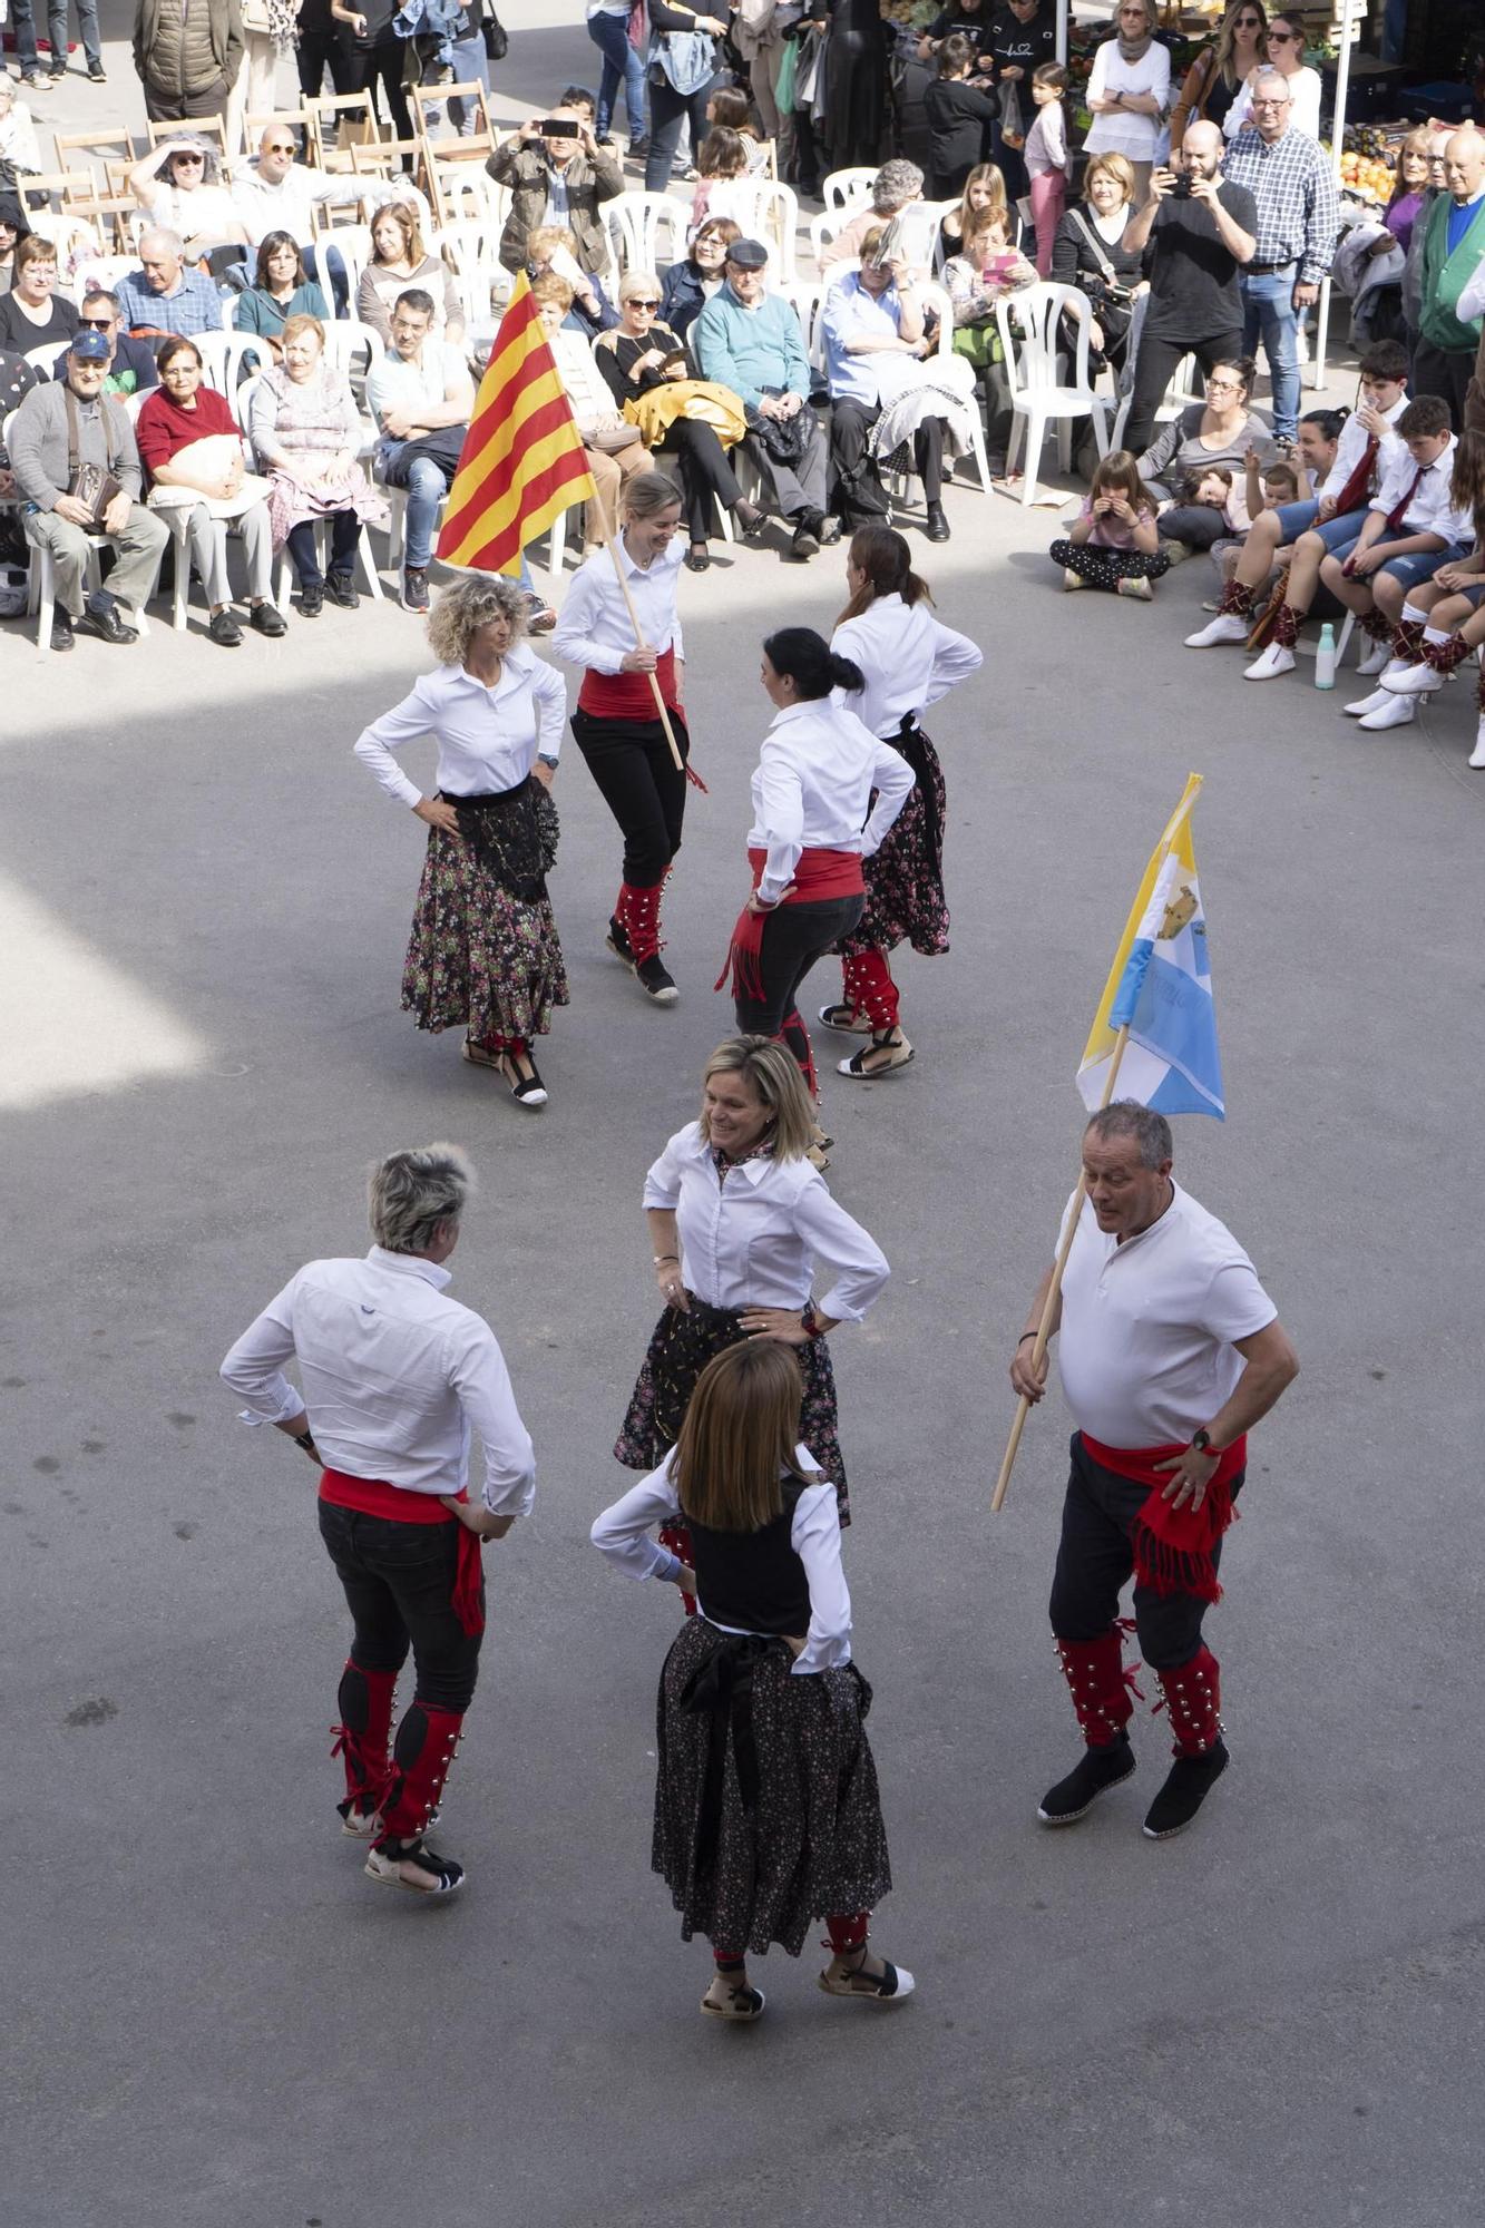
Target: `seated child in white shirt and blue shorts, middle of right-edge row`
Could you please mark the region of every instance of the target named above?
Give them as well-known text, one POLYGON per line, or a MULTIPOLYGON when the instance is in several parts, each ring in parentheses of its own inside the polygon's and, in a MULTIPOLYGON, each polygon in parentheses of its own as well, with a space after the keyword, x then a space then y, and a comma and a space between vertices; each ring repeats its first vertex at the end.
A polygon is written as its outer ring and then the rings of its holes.
MULTIPOLYGON (((1454 492, 1454 450, 1449 405, 1438 394, 1420 394, 1396 421, 1402 452, 1394 455, 1382 483, 1360 521, 1349 517, 1353 532, 1300 535, 1289 566, 1284 602, 1273 622, 1264 653, 1246 668, 1244 680, 1271 682, 1293 673, 1293 646, 1300 626, 1324 579, 1327 588, 1360 619, 1374 639, 1358 673, 1382 673, 1394 655, 1394 622, 1402 615, 1407 590, 1465 555, 1474 537, 1474 504, 1454 492)), ((1474 479, 1478 446, 1472 439, 1465 459, 1465 481, 1474 479)), ((1336 521, 1338 524, 1338 521, 1336 521)), ((1400 664, 1411 657, 1402 655, 1400 664)), ((1367 715, 1382 711, 1385 697, 1362 697, 1347 711, 1367 715)))

